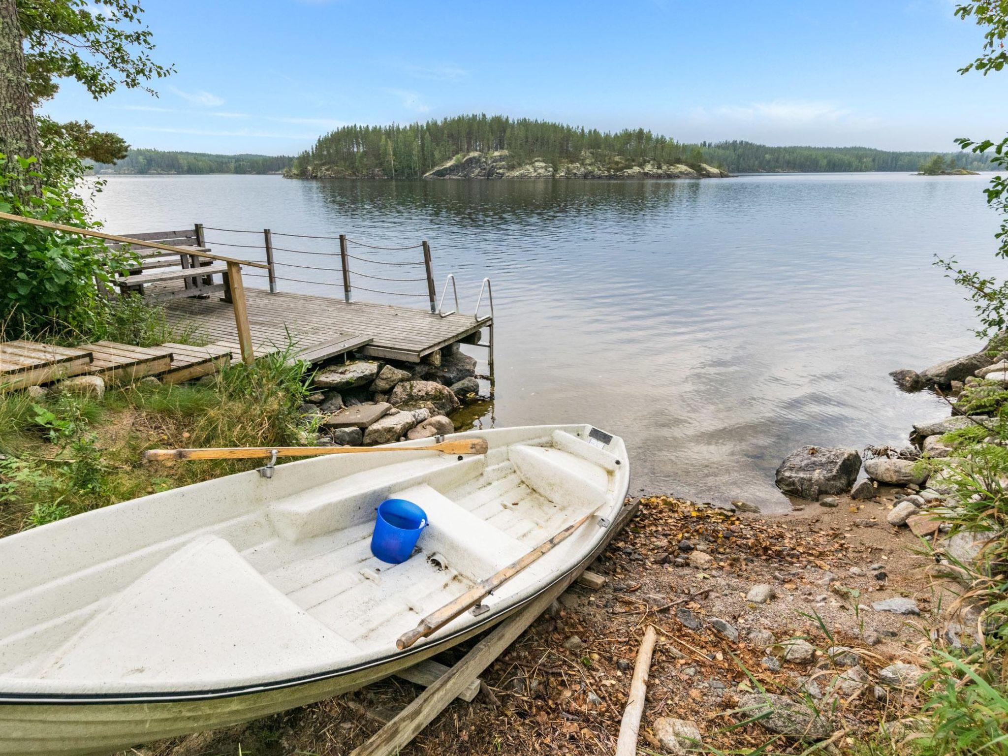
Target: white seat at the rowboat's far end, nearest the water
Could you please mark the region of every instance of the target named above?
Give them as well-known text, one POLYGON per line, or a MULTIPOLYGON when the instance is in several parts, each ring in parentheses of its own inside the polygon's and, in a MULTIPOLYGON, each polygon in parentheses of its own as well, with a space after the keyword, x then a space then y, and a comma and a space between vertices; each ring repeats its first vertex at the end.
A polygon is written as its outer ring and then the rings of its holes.
POLYGON ((515 445, 508 451, 508 459, 526 486, 554 504, 576 501, 591 511, 608 499, 609 473, 581 455, 549 447, 515 445))

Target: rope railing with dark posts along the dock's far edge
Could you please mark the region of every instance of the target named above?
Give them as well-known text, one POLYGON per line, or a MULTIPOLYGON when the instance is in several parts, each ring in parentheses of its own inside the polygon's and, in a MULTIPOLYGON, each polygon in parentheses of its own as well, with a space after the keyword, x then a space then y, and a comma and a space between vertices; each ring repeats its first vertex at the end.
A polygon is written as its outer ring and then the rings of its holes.
MULTIPOLYGON (((433 286, 433 269, 430 260, 430 247, 425 242, 422 241, 419 244, 409 244, 402 246, 386 246, 378 244, 367 244, 366 242, 361 242, 356 239, 350 239, 345 234, 339 236, 324 236, 321 234, 287 234, 279 231, 271 231, 270 229, 263 229, 261 232, 250 231, 248 229, 228 229, 218 226, 203 226, 198 225, 198 232, 200 234, 201 243, 207 246, 220 246, 220 247, 231 247, 235 249, 261 249, 265 252, 266 257, 266 267, 268 269, 268 275, 255 275, 253 278, 267 278, 269 280, 269 291, 274 293, 276 291, 277 281, 290 281, 292 283, 307 283, 323 286, 343 286, 344 297, 346 300, 352 301, 352 291, 357 288, 361 291, 368 291, 370 293, 376 294, 387 294, 389 296, 410 296, 410 297, 421 297, 426 296, 430 302, 430 311, 437 311, 436 303, 434 300, 434 286, 433 286), (225 234, 259 234, 263 235, 263 244, 242 244, 237 241, 215 241, 215 240, 205 240, 202 234, 205 231, 217 231, 225 234), (339 241, 340 250, 338 252, 329 252, 323 250, 308 250, 308 249, 297 249, 294 247, 275 247, 273 246, 273 237, 287 237, 291 239, 319 239, 326 241, 339 241), (378 250, 381 252, 404 252, 415 249, 423 250, 422 260, 381 260, 377 259, 377 256, 371 256, 365 252, 359 254, 351 254, 348 250, 349 245, 354 245, 355 247, 360 247, 362 250, 378 250), (273 259, 274 252, 285 252, 295 255, 310 255, 313 257, 339 257, 339 266, 328 267, 325 265, 301 265, 299 263, 293 262, 280 262, 273 259), (374 265, 386 265, 394 267, 413 267, 413 266, 424 266, 425 276, 419 277, 399 277, 399 276, 384 276, 375 275, 373 273, 365 273, 358 270, 350 269, 350 261, 358 260, 367 264, 374 265), (342 274, 342 281, 320 281, 320 280, 307 280, 303 278, 291 278, 288 276, 277 275, 277 268, 291 268, 294 270, 318 270, 318 271, 332 271, 334 273, 342 274), (385 289, 369 288, 367 286, 361 286, 354 281, 354 277, 357 279, 366 278, 372 281, 389 281, 392 283, 422 283, 426 282, 427 291, 426 293, 413 293, 409 291, 388 291, 385 289)), ((392 272, 392 271, 389 271, 392 272)), ((405 271, 403 271, 405 272, 405 271)))

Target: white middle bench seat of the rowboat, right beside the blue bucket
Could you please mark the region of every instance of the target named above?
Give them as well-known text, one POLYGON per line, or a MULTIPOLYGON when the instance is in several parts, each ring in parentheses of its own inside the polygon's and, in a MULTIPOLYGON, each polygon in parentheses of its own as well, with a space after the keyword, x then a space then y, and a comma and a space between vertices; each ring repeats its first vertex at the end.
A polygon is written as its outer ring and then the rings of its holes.
POLYGON ((396 496, 413 502, 427 515, 428 524, 418 542, 424 553, 440 553, 449 566, 471 580, 488 578, 528 551, 520 540, 430 486, 413 486, 396 496))

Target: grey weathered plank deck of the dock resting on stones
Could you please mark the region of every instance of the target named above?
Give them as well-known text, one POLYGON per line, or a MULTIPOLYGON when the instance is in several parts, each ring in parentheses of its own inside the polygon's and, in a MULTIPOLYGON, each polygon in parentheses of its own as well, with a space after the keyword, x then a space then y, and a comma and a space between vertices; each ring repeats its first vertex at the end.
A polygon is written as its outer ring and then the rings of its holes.
MULTIPOLYGON (((489 316, 428 310, 328 296, 245 289, 249 329, 256 356, 283 350, 292 340, 309 362, 359 351, 370 357, 419 362, 454 342, 492 325, 489 316), (289 335, 289 337, 288 337, 289 335)), ((217 297, 170 299, 168 321, 182 330, 239 354, 232 305, 217 297)))

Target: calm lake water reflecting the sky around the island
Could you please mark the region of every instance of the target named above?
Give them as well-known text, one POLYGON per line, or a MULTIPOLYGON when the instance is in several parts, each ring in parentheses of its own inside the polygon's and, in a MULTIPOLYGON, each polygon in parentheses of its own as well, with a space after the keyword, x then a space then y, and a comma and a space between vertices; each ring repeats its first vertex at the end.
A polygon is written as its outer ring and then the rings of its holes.
MULTIPOLYGON (((587 420, 626 438, 633 490, 784 509, 773 471, 793 448, 900 445, 911 422, 949 413, 931 394, 901 393, 887 373, 981 344, 972 305, 931 262, 954 254, 998 272, 997 217, 982 194, 989 177, 110 176, 96 207, 112 232, 202 222, 389 246, 427 239, 438 288, 455 273, 464 311, 481 279, 493 280, 496 395, 485 424, 587 420)), ((245 250, 223 243, 261 244, 207 238, 238 256, 245 250)), ((282 271, 339 281, 336 272, 282 271)), ((410 286, 423 291, 374 287, 410 286)), ((322 283, 280 287, 342 295, 322 283)))

